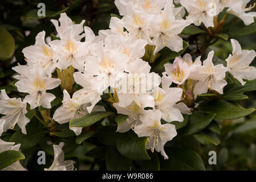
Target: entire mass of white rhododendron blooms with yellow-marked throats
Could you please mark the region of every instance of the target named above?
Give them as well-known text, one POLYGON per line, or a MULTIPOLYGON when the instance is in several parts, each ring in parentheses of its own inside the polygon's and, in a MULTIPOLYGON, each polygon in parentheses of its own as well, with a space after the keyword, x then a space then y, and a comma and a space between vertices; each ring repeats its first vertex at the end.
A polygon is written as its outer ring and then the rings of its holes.
MULTIPOLYGON (((242 50, 237 40, 231 39, 233 53, 226 64, 213 64, 214 51, 206 59, 193 59, 186 53, 177 56, 173 63, 164 64, 161 74, 152 72, 151 65, 143 59, 146 47, 153 47, 152 55, 163 48, 179 52, 183 49, 181 32, 190 24, 214 27, 214 16, 227 8, 227 13, 238 16, 247 25, 254 22, 255 13, 246 13, 248 1, 229 0, 181 0, 177 7, 167 0, 116 0, 121 17, 112 17, 109 29, 98 35, 88 26, 74 24, 66 13, 59 21, 51 20, 56 28, 56 40, 44 41, 46 32, 39 32, 35 44, 23 49, 26 65, 17 65, 13 70, 18 81, 18 92, 25 98, 9 98, 1 90, 0 130, 18 126, 26 134, 27 109, 37 107, 51 109, 56 96, 50 92, 62 88, 62 105, 54 111, 52 120, 59 124, 84 117, 95 111, 105 111, 99 102, 109 94, 109 103, 117 114, 127 115, 118 123, 116 132, 133 130, 137 136, 147 137, 147 149, 161 152, 168 159, 164 145, 177 135, 173 121, 184 122, 184 114, 190 114, 194 105, 189 105, 200 94, 213 91, 223 94, 227 85, 226 73, 234 76, 242 85, 245 80, 256 78, 256 69, 250 63, 255 51, 242 50), (63 87, 65 71, 79 85, 72 90, 63 87), (58 72, 58 77, 54 76, 58 72), (188 89, 188 83, 190 84, 188 89), (189 98, 190 99, 190 98, 189 98), (28 106, 29 105, 29 106, 28 106)), ((178 3, 176 1, 176 3, 178 3)), ((71 79, 71 80, 72 80, 71 79)), ((73 83, 73 82, 71 82, 73 83)), ((72 127, 76 135, 83 127, 72 127)), ((2 133, 2 132, 0 132, 2 133)), ((0 150, 19 150, 19 145, 0 140, 0 150), (5 146, 5 147, 3 147, 5 146)), ((54 163, 46 170, 73 170, 74 162, 64 161, 63 143, 54 145, 54 163)), ((24 169, 19 162, 9 168, 24 169)))

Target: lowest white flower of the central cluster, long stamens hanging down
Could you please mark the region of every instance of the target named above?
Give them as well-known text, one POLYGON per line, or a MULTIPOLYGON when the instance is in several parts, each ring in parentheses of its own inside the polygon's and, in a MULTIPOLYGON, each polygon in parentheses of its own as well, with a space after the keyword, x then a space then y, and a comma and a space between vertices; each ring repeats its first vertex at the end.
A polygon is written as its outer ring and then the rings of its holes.
POLYGON ((160 110, 152 111, 152 116, 147 120, 141 119, 142 124, 136 126, 134 131, 139 137, 148 137, 147 148, 153 152, 161 151, 162 156, 168 159, 164 151, 164 144, 177 135, 175 126, 169 123, 161 124, 162 113, 160 110))

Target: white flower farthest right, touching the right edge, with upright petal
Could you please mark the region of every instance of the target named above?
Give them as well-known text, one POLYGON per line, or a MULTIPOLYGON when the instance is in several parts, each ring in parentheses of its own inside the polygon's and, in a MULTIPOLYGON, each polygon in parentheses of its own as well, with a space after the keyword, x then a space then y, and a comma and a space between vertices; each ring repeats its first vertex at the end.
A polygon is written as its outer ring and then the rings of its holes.
POLYGON ((231 39, 231 44, 233 47, 233 55, 227 57, 227 69, 234 78, 237 78, 242 85, 245 85, 246 80, 254 80, 256 78, 256 68, 250 67, 251 61, 254 60, 256 52, 254 50, 242 50, 241 45, 237 40, 231 39))

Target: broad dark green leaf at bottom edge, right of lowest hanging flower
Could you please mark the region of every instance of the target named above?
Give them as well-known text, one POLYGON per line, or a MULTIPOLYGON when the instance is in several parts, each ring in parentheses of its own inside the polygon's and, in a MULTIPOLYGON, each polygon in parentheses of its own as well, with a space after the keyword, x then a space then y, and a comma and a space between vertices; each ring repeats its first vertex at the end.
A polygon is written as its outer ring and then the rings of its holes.
POLYGON ((186 148, 165 147, 169 159, 160 158, 161 168, 168 171, 205 171, 200 156, 186 148))

